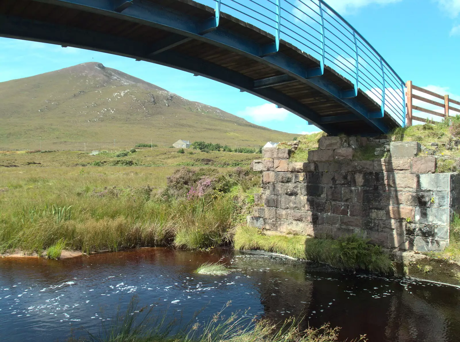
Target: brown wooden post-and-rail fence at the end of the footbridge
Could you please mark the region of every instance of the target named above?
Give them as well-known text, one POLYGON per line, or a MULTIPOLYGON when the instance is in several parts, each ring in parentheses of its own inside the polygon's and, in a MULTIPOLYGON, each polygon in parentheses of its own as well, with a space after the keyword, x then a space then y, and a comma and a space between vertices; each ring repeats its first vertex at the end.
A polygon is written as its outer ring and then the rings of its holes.
POLYGON ((440 116, 442 118, 447 118, 449 116, 449 111, 454 111, 454 112, 460 113, 460 108, 455 108, 455 107, 452 107, 450 105, 450 104, 455 104, 455 105, 460 106, 460 102, 452 100, 451 98, 449 98, 449 95, 440 95, 440 94, 437 94, 437 93, 435 93, 433 91, 429 91, 429 90, 426 90, 424 88, 420 88, 420 87, 418 87, 416 85, 413 85, 412 81, 407 81, 406 87, 407 87, 407 92, 406 92, 407 115, 406 115, 406 117, 407 117, 407 125, 408 126, 412 126, 412 120, 421 121, 421 122, 429 121, 429 119, 424 119, 424 118, 420 118, 419 116, 412 115, 413 110, 419 110, 420 112, 440 116), (436 101, 430 100, 430 99, 428 99, 426 97, 421 97, 421 96, 418 96, 418 95, 414 95, 414 93, 413 93, 414 90, 423 92, 423 93, 431 95, 433 97, 440 98, 440 99, 444 100, 444 102, 443 103, 436 102, 436 101), (444 108, 444 114, 435 112, 434 110, 430 110, 430 109, 422 108, 422 107, 419 107, 419 106, 415 106, 412 103, 414 99, 415 100, 420 100, 420 101, 423 101, 423 102, 426 102, 426 103, 430 103, 432 105, 435 105, 435 106, 438 106, 438 107, 441 107, 441 108, 444 108))

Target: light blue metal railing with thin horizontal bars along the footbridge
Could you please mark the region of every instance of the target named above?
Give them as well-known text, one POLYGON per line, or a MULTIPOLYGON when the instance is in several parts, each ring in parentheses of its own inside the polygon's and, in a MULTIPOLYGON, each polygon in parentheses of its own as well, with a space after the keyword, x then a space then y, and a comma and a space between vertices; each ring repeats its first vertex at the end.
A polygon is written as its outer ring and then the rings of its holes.
POLYGON ((398 124, 406 123, 405 82, 374 47, 323 0, 198 0, 272 33, 350 80, 398 124))

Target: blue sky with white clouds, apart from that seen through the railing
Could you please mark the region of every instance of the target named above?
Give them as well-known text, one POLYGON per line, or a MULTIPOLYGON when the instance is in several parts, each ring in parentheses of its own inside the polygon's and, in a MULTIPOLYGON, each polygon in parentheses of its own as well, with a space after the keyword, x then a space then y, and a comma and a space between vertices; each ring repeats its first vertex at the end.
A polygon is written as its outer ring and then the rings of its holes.
MULTIPOLYGON (((329 0, 403 78, 460 100, 460 0, 329 0)), ((228 85, 147 62, 0 38, 0 82, 101 62, 193 101, 290 133, 317 131, 296 115, 228 85)), ((419 114, 417 114, 419 115, 419 114)))

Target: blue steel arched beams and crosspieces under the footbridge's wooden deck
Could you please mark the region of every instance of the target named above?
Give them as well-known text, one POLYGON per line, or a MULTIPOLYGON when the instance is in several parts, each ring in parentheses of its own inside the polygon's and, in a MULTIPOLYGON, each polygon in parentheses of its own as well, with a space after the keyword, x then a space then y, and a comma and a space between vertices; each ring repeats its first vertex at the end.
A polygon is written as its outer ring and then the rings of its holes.
MULTIPOLYGON (((331 71, 328 71, 329 74, 325 73, 323 63, 303 51, 292 46, 288 50, 285 46, 289 44, 282 41, 283 50, 288 51, 286 54, 280 51, 277 37, 260 30, 261 37, 265 38, 264 42, 246 37, 239 32, 240 29, 232 30, 229 25, 219 26, 219 21, 223 20, 219 8, 213 10, 188 0, 170 1, 170 3, 183 5, 187 3, 189 6, 196 7, 201 14, 198 17, 178 11, 177 8, 161 6, 160 1, 156 0, 16 0, 16 2, 21 1, 24 3, 36 1, 53 6, 57 10, 92 13, 101 18, 113 18, 147 26, 165 33, 163 34, 165 37, 150 43, 126 38, 122 33, 104 33, 82 29, 78 25, 62 24, 54 18, 36 20, 9 13, 0 14, 1 36, 108 52, 199 74, 276 103, 279 107, 292 111, 330 134, 342 132, 340 129, 342 123, 360 122, 365 127, 359 131, 362 135, 386 133, 397 126, 388 115, 383 120, 385 112, 381 106, 369 105, 369 101, 363 102, 363 94, 358 98, 358 89, 350 81, 342 77, 342 84, 337 84, 331 79, 333 78, 331 74, 334 76, 331 71), (190 42, 205 43, 208 46, 224 49, 234 53, 235 56, 242 56, 268 67, 273 70, 272 73, 276 72, 278 75, 253 79, 232 68, 213 63, 212 59, 188 56, 177 51, 178 47, 190 42), (293 55, 292 51, 298 53, 299 58, 293 55), (310 66, 302 63, 300 57, 308 58, 310 66), (344 113, 325 115, 318 112, 311 108, 314 105, 308 97, 305 97, 305 101, 293 98, 283 90, 284 86, 293 85, 307 86, 308 89, 322 94, 324 98, 333 100, 344 108, 344 113)), ((240 25, 244 24, 235 21, 240 25)), ((340 77, 335 75, 338 76, 340 77)))

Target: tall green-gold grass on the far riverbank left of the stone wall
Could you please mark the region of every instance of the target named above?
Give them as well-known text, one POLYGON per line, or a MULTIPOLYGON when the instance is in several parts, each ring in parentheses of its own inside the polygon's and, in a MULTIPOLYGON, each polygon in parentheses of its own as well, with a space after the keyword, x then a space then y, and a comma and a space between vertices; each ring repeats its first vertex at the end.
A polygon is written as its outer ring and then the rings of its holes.
POLYGON ((46 251, 53 257, 56 245, 86 253, 222 245, 259 176, 242 169, 176 170, 6 169, 0 179, 0 251, 46 251), (202 178, 208 182, 197 185, 202 178), (194 185, 201 186, 201 196, 189 194, 194 185))

